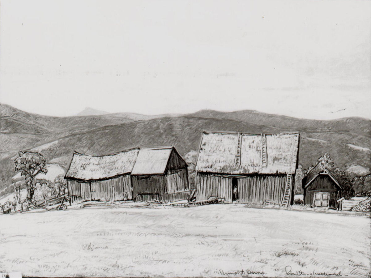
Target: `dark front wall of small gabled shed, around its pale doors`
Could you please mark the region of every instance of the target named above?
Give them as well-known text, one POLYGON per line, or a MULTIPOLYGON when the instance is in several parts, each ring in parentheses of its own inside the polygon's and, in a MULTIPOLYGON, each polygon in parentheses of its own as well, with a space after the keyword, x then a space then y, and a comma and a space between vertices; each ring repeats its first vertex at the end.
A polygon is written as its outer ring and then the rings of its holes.
POLYGON ((319 174, 307 187, 304 188, 305 205, 314 205, 314 194, 316 192, 328 192, 328 206, 331 208, 337 207, 336 200, 341 198, 342 194, 341 189, 339 189, 334 180, 326 174, 319 174))

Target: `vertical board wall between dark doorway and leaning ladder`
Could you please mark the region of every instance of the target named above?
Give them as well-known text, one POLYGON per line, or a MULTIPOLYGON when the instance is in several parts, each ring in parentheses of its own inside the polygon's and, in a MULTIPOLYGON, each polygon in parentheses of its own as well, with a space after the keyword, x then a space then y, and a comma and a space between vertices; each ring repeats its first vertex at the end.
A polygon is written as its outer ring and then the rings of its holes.
POLYGON ((286 175, 251 175, 237 178, 239 202, 263 204, 268 200, 280 204, 285 192, 286 177, 286 175))

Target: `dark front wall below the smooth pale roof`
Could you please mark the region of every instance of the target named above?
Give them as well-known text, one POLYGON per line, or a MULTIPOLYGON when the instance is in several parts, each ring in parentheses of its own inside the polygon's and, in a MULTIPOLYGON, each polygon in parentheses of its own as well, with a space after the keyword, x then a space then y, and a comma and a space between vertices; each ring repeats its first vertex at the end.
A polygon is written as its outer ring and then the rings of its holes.
POLYGON ((157 199, 166 202, 166 177, 165 175, 131 176, 133 186, 133 200, 135 202, 151 201, 157 199))

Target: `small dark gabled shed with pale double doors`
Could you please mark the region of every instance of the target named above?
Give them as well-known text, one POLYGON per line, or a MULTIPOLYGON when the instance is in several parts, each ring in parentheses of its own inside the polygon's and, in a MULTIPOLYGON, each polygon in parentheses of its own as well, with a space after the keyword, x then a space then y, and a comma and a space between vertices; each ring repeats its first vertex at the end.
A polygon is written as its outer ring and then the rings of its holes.
POLYGON ((342 197, 342 186, 336 174, 324 163, 318 162, 302 179, 304 204, 311 207, 336 209, 336 200, 342 197))

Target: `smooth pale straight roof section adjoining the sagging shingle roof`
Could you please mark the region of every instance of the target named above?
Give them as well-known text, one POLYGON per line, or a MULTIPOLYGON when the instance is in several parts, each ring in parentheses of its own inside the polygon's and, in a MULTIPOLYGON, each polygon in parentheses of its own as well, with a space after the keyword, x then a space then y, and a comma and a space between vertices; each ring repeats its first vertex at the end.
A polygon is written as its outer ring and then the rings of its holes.
POLYGON ((132 175, 164 174, 173 147, 141 148, 132 175))

